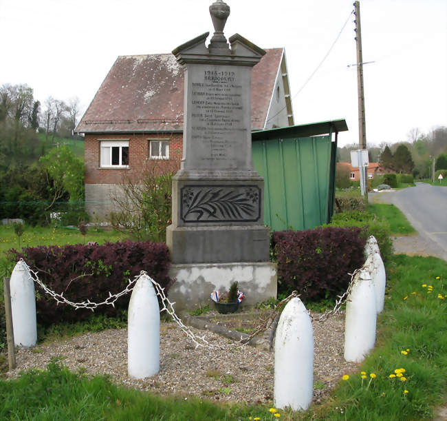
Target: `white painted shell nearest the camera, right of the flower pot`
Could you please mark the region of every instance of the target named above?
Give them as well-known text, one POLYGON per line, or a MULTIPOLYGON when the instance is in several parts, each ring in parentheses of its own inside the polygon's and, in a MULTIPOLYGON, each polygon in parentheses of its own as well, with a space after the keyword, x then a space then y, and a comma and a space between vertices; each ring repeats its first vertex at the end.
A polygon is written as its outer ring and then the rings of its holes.
POLYGON ((314 389, 314 333, 303 302, 292 298, 285 306, 274 345, 274 404, 276 408, 306 410, 314 389))

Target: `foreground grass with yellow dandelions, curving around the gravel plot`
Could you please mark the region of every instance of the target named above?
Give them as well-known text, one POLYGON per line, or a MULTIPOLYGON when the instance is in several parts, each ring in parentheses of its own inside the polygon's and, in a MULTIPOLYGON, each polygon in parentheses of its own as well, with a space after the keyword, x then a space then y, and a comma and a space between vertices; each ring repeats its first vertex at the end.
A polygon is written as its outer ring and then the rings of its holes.
MULTIPOLYGON (((348 380, 340 379, 323 404, 305 413, 279 411, 280 420, 422 420, 445 402, 447 263, 397 255, 388 278, 371 355, 347 373, 348 380)), ((0 381, 0 402, 1 419, 276 419, 269 407, 154 396, 118 387, 107 377, 70 373, 56 362, 47 371, 0 381)))

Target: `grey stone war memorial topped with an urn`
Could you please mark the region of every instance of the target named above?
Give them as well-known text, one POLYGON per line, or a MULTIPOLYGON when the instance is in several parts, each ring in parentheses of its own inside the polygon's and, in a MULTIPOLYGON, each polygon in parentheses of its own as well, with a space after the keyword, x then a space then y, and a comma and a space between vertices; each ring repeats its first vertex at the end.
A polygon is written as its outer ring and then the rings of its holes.
POLYGON ((206 32, 173 50, 185 68, 183 156, 166 230, 176 280, 169 296, 179 309, 209 303, 212 291, 235 281, 249 305, 276 297, 251 146, 250 78, 265 51, 239 34, 227 41, 226 3, 212 3, 210 14, 208 46, 206 32))

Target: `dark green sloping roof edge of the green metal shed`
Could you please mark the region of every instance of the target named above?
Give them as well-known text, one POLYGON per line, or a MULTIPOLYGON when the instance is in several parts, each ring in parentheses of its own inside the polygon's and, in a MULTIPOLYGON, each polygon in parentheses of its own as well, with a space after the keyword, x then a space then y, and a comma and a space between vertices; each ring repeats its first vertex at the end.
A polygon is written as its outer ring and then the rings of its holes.
POLYGON ((318 136, 319 134, 346 132, 348 126, 345 119, 320 121, 319 123, 309 123, 292 125, 290 127, 280 127, 279 129, 258 130, 252 132, 252 141, 265 141, 271 138, 297 138, 318 136))

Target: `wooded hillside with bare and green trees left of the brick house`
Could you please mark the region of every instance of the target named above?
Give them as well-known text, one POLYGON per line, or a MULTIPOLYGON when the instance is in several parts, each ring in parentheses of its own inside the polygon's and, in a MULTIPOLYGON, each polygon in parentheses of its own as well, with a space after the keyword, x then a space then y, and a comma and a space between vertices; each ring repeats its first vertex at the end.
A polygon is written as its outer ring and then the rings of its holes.
POLYGON ((48 97, 43 105, 28 85, 0 87, 0 218, 48 223, 69 210, 85 216, 84 164, 59 138, 72 138, 78 99, 48 97), (62 205, 61 202, 65 203, 62 205))

